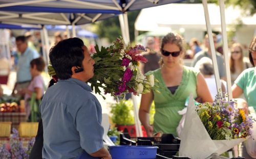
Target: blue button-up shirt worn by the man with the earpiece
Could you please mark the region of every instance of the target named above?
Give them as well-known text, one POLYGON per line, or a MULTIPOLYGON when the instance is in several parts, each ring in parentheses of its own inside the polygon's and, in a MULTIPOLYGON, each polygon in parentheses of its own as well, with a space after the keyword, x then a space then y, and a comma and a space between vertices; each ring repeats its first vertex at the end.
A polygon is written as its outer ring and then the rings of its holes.
POLYGON ((91 87, 75 78, 60 80, 41 101, 43 158, 78 158, 103 147, 101 106, 91 87))

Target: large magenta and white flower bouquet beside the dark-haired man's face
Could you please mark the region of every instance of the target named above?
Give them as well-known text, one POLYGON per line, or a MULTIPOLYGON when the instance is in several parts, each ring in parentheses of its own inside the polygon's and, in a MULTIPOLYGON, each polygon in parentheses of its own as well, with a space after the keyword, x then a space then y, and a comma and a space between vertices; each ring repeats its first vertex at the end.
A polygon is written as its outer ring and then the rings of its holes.
MULTIPOLYGON (((150 92, 155 83, 154 75, 144 76, 138 68, 139 62, 147 62, 140 55, 146 51, 142 45, 125 46, 120 37, 110 47, 102 46, 99 50, 96 45, 95 50, 96 53, 92 56, 95 61, 94 76, 88 81, 95 93, 102 95, 99 88, 103 88, 104 94, 110 93, 112 96, 124 96, 129 92, 134 95, 150 92)), ((50 76, 54 77, 51 65, 48 70, 50 76)))

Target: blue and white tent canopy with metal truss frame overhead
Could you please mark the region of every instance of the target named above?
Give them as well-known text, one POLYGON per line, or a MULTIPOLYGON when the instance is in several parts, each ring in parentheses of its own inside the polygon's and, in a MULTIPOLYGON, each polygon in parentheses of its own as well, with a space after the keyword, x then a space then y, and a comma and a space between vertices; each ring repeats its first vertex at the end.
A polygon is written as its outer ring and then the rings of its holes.
POLYGON ((80 25, 181 0, 0 0, 0 21, 80 25))

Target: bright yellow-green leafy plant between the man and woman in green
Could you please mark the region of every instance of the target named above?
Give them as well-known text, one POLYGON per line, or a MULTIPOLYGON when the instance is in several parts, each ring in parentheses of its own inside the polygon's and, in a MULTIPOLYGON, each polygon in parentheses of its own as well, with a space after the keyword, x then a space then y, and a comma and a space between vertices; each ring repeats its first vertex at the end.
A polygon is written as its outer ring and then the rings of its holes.
POLYGON ((111 105, 112 121, 118 125, 134 124, 133 104, 131 100, 120 100, 111 105))

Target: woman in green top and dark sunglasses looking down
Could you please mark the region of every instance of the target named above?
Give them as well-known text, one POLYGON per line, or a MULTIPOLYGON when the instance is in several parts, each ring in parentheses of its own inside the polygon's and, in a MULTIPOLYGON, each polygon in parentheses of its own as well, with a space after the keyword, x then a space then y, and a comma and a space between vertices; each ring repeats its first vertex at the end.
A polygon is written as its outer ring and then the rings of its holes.
POLYGON ((154 74, 159 81, 155 84, 154 90, 142 94, 141 97, 139 118, 149 137, 158 131, 177 136, 176 128, 182 117, 178 111, 185 107, 185 100, 189 94, 192 93, 195 98, 202 98, 203 102, 212 102, 199 70, 181 64, 184 52, 182 37, 178 34, 167 34, 161 44, 161 68, 147 72, 154 74), (151 126, 148 114, 153 100, 156 113, 154 126, 151 126))

